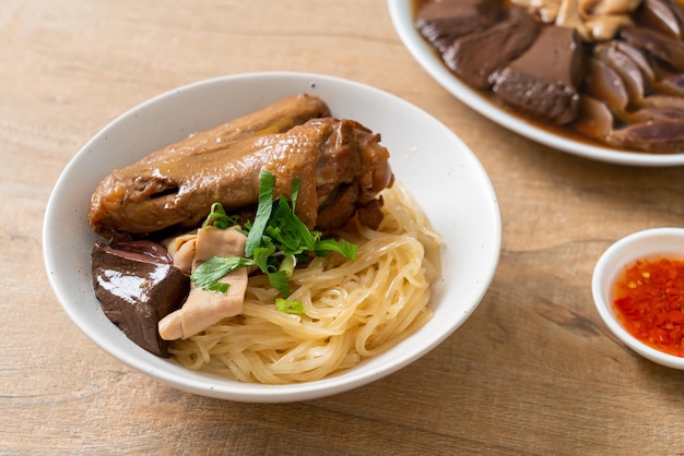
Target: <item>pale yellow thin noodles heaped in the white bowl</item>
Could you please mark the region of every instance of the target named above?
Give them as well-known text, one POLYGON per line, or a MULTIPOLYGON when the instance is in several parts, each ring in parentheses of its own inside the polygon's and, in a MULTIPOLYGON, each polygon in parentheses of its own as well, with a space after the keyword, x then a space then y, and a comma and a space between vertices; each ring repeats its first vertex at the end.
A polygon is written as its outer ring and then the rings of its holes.
POLYGON ((416 332, 433 315, 441 240, 399 182, 382 196, 377 231, 339 233, 358 244, 355 261, 329 254, 295 269, 288 300, 302 302, 305 314, 278 311, 278 291, 266 277, 250 277, 243 313, 174 341, 173 357, 240 382, 285 384, 349 369, 416 332))

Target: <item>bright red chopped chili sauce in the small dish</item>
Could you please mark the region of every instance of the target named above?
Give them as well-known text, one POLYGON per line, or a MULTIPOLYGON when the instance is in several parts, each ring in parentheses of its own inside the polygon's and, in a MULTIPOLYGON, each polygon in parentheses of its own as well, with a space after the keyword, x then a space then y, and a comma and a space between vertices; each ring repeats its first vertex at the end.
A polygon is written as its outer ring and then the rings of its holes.
POLYGON ((644 344, 684 357, 684 261, 639 260, 618 276, 613 308, 644 344))

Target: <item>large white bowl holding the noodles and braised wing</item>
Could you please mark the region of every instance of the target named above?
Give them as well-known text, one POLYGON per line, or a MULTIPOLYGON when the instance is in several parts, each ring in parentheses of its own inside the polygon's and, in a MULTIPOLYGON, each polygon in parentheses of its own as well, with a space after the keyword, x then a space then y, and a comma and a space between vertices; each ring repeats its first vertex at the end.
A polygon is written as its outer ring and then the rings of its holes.
POLYGON ((473 312, 498 264, 500 215, 490 179, 468 147, 444 124, 390 94, 335 77, 258 73, 217 77, 160 95, 105 127, 73 157, 47 205, 44 254, 63 310, 104 351, 177 388, 231 400, 278 403, 341 393, 381 379, 445 340, 473 312), (281 97, 320 96, 340 118, 381 133, 402 181, 445 240, 444 278, 434 287, 435 316, 388 352, 325 380, 270 386, 187 370, 131 343, 102 312, 92 289, 90 254, 96 240, 87 207, 96 184, 189 133, 251 112, 281 97))

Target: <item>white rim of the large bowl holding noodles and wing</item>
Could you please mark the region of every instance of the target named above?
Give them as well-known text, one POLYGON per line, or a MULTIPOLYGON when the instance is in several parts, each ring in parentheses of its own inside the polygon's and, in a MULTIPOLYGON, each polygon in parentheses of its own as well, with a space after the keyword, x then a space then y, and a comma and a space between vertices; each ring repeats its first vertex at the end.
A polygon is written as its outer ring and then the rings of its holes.
MULTIPOLYGON (((63 189, 62 189, 63 191, 63 189)), ((494 275, 496 273, 498 266, 498 260, 500 255, 500 241, 502 241, 502 223, 500 223, 500 213, 498 209, 498 202, 496 199, 496 194, 494 191, 494 187, 483 168, 482 164, 479 161, 476 156, 470 151, 470 148, 460 140, 458 135, 456 135, 452 131, 450 131, 444 123, 441 123, 438 119, 434 118, 432 115, 427 113, 420 107, 410 104, 409 101, 392 95, 388 92, 385 92, 380 88, 373 87, 370 85, 366 85, 363 83, 358 83, 351 80, 345 80, 337 76, 330 76, 325 74, 316 74, 316 73, 303 73, 303 72, 287 72, 287 71, 273 71, 273 72, 252 72, 252 73, 237 73, 237 74, 228 74, 222 76, 210 77, 201 81, 197 81, 190 84, 186 84, 176 88, 168 89, 164 93, 161 93, 156 96, 153 96, 133 108, 125 111, 123 113, 116 117, 105 127, 103 127, 95 135, 93 135, 78 152, 76 154, 69 160, 61 175, 59 176, 55 188, 50 194, 48 200, 44 224, 43 224, 43 245, 44 245, 44 261, 47 271, 48 281, 52 288, 55 296, 57 297, 58 302, 61 308, 66 311, 68 316, 72 320, 73 323, 103 351, 114 357, 118 361, 127 364, 131 369, 142 372, 155 380, 158 380, 168 385, 175 386, 178 389, 182 389, 186 392, 190 392, 193 394, 235 400, 235 401, 245 401, 245 403, 284 403, 284 401, 296 401, 296 400, 307 400, 319 397, 329 396, 332 394, 342 393, 349 389, 353 389, 358 386, 363 386, 365 384, 372 383, 376 380, 379 380, 384 376, 387 376, 410 363, 416 361, 425 353, 437 347, 441 344, 446 338, 448 338, 480 304, 482 299, 484 298, 486 291, 490 288, 490 284, 492 283, 494 275), (46 248, 46 245, 51 245, 52 235, 49 232, 50 221, 55 220, 58 217, 57 208, 56 208, 56 200, 59 194, 59 189, 62 189, 61 185, 64 184, 66 177, 69 175, 69 171, 72 168, 75 168, 76 163, 83 156, 85 156, 93 144, 97 143, 102 140, 102 137, 106 137, 108 131, 122 120, 137 117, 138 112, 145 110, 150 106, 154 106, 155 104, 163 101, 166 98, 176 97, 179 94, 185 94, 188 91, 193 91, 198 87, 207 87, 208 85, 217 84, 223 87, 222 84, 228 84, 238 80, 258 80, 258 81, 271 81, 276 80, 279 83, 287 82, 290 80, 296 80, 297 84, 309 84, 311 81, 316 82, 326 82, 329 85, 339 89, 340 87, 346 87, 347 89, 353 89, 356 92, 363 92, 364 94, 377 94, 377 97, 385 97, 392 103, 400 104, 405 109, 411 109, 415 112, 416 116, 421 116, 421 118, 428 119, 431 123, 434 123, 435 128, 438 128, 444 132, 445 135, 449 135, 450 141, 452 141, 452 145, 457 146, 457 148, 461 148, 467 156, 461 156, 464 160, 461 166, 465 167, 465 161, 469 164, 467 169, 474 172, 477 176, 477 180, 482 180, 483 190, 486 191, 486 197, 491 202, 487 204, 487 208, 484 209, 488 216, 492 217, 492 221, 494 226, 491 227, 492 235, 494 236, 491 239, 491 245, 486 248, 487 259, 491 257, 491 269, 487 266, 486 276, 483 274, 481 280, 477 283, 476 287, 476 296, 473 297, 474 302, 469 304, 469 308, 465 310, 464 315, 459 315, 459 323, 456 325, 451 325, 450 331, 445 331, 439 334, 439 337, 433 338, 429 340, 429 344, 420 344, 420 346, 415 349, 409 350, 411 356, 401 357, 399 361, 390 362, 389 367, 374 367, 373 369, 367 369, 365 371, 355 372, 355 371, 345 371, 344 382, 341 383, 338 379, 338 375, 331 375, 325 377, 322 380, 306 382, 306 383, 295 383, 295 384, 286 384, 286 385, 261 385, 261 384, 247 384, 247 385, 256 385, 255 388, 250 388, 249 391, 240 388, 239 382, 225 382, 226 379, 217 377, 219 385, 212 384, 212 386, 208 386, 207 382, 203 379, 198 380, 196 377, 184 376, 182 372, 167 371, 167 368, 164 369, 155 369, 154 365, 141 369, 141 362, 139 358, 144 358, 151 360, 152 358, 156 358, 151 353, 144 352, 140 356, 130 357, 127 355, 126 349, 121 347, 107 347, 102 340, 97 338, 95 334, 96 331, 90 328, 89 331, 84 331, 84 325, 90 326, 91 323, 87 321, 85 316, 79 314, 76 310, 68 304, 69 293, 63 287, 58 284, 57 277, 55 277, 52 266, 55 265, 55 259, 52 257, 54 253, 51 249, 46 248), (283 81, 280 81, 283 80, 283 81), (490 200, 491 199, 491 200, 490 200), (302 386, 305 385, 305 386, 302 386)), ((482 247, 484 248, 484 245, 482 247)), ((488 261, 490 262, 490 261, 488 261)), ((487 264, 488 264, 487 262, 487 264)), ((475 287, 473 287, 475 289, 475 287)), ((104 316, 103 316, 104 317, 104 316)), ((121 333, 122 334, 122 333, 121 333)), ((122 336, 125 337, 125 336, 122 336)), ((178 367, 180 370, 186 370, 185 368, 178 367)), ((170 368, 169 368, 170 369, 170 368)), ((211 376, 210 374, 205 374, 211 376)), ((241 384, 246 385, 246 384, 241 384)))

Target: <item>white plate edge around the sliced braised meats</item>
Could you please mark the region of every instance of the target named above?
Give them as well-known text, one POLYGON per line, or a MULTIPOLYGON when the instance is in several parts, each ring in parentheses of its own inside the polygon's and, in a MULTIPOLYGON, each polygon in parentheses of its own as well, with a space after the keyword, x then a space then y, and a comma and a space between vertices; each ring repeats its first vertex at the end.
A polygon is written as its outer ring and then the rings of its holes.
POLYGON ((441 62, 438 53, 423 39, 413 26, 414 0, 387 0, 390 17, 399 38, 415 60, 437 81, 445 89, 460 99, 471 109, 538 143, 564 151, 570 154, 622 165, 634 166, 679 166, 684 165, 683 154, 645 154, 640 152, 616 151, 610 147, 589 145, 586 142, 574 141, 538 128, 523 118, 512 116, 490 103, 476 91, 463 84, 441 62))

